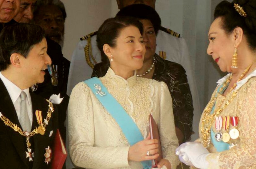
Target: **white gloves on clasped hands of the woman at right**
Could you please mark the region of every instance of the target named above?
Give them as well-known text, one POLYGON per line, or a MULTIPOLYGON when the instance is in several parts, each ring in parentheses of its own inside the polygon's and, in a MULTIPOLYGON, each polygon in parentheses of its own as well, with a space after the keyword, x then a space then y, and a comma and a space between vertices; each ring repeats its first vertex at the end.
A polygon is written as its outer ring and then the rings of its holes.
POLYGON ((201 143, 183 143, 176 149, 176 154, 186 165, 191 165, 192 163, 193 166, 201 169, 207 169, 209 166, 206 156, 210 153, 201 143))

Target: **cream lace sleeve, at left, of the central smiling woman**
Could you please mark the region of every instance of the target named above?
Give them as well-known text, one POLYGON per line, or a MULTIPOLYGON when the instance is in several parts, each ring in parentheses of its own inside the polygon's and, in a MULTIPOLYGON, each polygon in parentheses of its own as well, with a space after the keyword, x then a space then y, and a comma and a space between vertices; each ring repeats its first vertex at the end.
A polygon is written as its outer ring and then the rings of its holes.
MULTIPOLYGON (((70 157, 76 166, 116 168, 129 166, 129 147, 94 147, 92 92, 83 82, 74 87, 68 105, 70 157)), ((97 119, 96 119, 97 120, 97 119)))

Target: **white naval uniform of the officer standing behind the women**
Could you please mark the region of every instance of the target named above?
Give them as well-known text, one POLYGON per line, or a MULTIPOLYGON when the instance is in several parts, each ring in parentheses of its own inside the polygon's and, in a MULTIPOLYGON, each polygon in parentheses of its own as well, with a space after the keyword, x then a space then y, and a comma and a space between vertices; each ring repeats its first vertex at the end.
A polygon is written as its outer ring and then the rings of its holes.
MULTIPOLYGON (((166 52, 166 60, 179 63, 186 70, 188 84, 193 99, 194 117, 193 117, 193 134, 192 140, 199 137, 197 132, 199 120, 201 116, 201 110, 199 107, 199 96, 194 78, 194 70, 191 64, 191 58, 188 52, 188 46, 182 37, 176 37, 162 30, 158 31, 157 35, 157 47, 156 53, 159 55, 159 51, 166 52)), ((73 52, 69 75, 68 75, 68 87, 67 94, 70 95, 72 89, 76 84, 86 79, 90 79, 93 69, 86 63, 84 47, 87 44, 87 40, 79 41, 76 49, 73 52)), ((97 47, 96 35, 91 37, 92 56, 95 58, 97 63, 101 62, 100 51, 97 47)), ((91 58, 90 58, 91 59, 91 58)), ((91 62, 93 63, 92 59, 91 62)))

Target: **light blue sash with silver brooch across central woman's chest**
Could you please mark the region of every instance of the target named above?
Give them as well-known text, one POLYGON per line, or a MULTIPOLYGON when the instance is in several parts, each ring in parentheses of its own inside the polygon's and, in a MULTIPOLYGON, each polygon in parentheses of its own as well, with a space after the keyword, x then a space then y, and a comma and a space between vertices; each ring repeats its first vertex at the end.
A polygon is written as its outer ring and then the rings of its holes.
MULTIPOLYGON (((98 101, 101 102, 104 108, 116 120, 116 123, 121 128, 130 145, 134 145, 144 139, 136 123, 134 123, 133 119, 127 114, 123 107, 108 92, 100 79, 93 77, 85 80, 84 83, 90 87, 98 101)), ((150 160, 141 161, 141 163, 144 169, 151 169, 152 167, 150 160)))

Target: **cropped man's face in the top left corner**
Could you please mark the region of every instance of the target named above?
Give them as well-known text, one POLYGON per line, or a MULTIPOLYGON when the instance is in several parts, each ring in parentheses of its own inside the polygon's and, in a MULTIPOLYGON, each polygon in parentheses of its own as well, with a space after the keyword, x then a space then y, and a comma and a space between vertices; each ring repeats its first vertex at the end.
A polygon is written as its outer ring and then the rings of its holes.
POLYGON ((0 0, 0 23, 7 23, 18 13, 21 0, 0 0))

